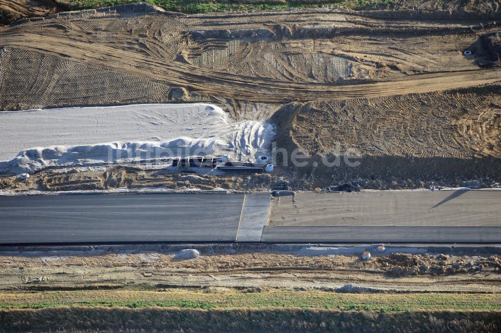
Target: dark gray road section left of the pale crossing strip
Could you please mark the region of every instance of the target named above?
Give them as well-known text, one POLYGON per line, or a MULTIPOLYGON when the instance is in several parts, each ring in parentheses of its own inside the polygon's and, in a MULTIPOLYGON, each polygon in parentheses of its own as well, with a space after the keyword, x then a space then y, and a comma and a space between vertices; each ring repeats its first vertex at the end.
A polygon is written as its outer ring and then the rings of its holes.
POLYGON ((243 194, 0 196, 0 243, 234 241, 243 194))

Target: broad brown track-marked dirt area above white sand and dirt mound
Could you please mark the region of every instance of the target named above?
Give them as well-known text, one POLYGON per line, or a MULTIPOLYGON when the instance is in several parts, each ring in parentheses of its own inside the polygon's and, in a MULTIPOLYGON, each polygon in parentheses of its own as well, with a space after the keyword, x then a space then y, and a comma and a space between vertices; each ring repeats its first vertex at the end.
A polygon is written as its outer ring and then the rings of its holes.
POLYGON ((62 106, 75 93, 81 96, 75 103, 109 104, 122 102, 118 91, 138 102, 339 100, 499 80, 497 70, 478 70, 474 57, 461 54, 498 30, 494 23, 375 19, 328 9, 265 13, 185 16, 129 5, 3 28, 0 106, 62 106), (19 75, 23 80, 10 81, 19 75), (375 83, 360 85, 368 80, 375 83), (92 99, 88 87, 106 89, 92 99))

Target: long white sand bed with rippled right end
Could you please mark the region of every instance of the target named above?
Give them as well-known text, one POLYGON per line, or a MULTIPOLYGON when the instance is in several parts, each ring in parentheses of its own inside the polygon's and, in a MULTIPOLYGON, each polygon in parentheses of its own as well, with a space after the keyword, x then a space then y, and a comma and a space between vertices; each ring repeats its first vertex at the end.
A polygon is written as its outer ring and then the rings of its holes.
POLYGON ((273 126, 230 122, 208 104, 138 104, 0 113, 0 171, 230 153, 268 154, 273 126))

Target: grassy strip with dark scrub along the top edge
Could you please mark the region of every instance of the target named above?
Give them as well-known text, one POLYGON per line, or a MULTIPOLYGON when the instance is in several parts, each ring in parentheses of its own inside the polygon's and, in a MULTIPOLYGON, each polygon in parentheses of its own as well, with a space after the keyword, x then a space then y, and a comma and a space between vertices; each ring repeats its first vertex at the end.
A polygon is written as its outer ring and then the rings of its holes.
MULTIPOLYGON (((88 8, 98 8, 109 5, 121 5, 137 3, 139 0, 0 0, 0 13, 4 15, 0 24, 9 24, 19 19, 46 17, 63 11, 76 11, 88 8)), ((261 5, 267 9, 275 7, 325 7, 334 5, 340 8, 364 10, 387 10, 387 11, 412 11, 434 12, 438 15, 447 16, 453 14, 456 17, 495 17, 499 14, 499 0, 405 0, 405 1, 351 1, 351 0, 201 0, 197 4, 215 4, 212 7, 189 6, 179 1, 148 0, 150 4, 157 4, 163 9, 181 13, 205 13, 235 10, 260 9, 261 5), (217 7, 217 5, 222 5, 217 7), (278 5, 278 6, 277 6, 278 5)), ((192 4, 191 4, 192 5, 192 4)), ((261 7, 262 9, 265 9, 261 7)))

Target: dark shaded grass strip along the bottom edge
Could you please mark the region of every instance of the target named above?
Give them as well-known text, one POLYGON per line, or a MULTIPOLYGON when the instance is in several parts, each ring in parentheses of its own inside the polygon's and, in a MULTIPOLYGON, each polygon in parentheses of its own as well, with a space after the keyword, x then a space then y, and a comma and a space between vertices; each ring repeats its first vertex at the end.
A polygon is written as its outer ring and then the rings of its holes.
POLYGON ((50 307, 0 310, 1 332, 203 331, 203 332, 495 332, 499 311, 375 311, 311 308, 50 307))

